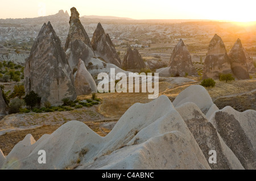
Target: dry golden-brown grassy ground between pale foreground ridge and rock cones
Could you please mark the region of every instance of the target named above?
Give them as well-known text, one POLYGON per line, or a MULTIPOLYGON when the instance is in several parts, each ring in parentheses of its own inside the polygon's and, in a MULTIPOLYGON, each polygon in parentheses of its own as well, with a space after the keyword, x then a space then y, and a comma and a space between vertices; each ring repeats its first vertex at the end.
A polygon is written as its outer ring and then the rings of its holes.
MULTIPOLYGON (((161 78, 159 96, 167 95, 173 101, 176 96, 191 85, 200 85, 199 78, 161 78), (190 78, 190 79, 189 79, 190 78), (185 80, 185 81, 184 81, 185 80)), ((256 79, 220 82, 207 88, 218 108, 232 106, 237 111, 256 110, 256 79)), ((43 134, 51 134, 61 125, 71 120, 78 120, 104 137, 114 127, 120 117, 134 103, 151 102, 147 93, 106 93, 97 94, 101 104, 84 107, 73 111, 49 113, 18 113, 7 115, 0 120, 0 148, 7 155, 27 134, 38 140, 43 134)), ((90 96, 79 96, 79 100, 90 96)))

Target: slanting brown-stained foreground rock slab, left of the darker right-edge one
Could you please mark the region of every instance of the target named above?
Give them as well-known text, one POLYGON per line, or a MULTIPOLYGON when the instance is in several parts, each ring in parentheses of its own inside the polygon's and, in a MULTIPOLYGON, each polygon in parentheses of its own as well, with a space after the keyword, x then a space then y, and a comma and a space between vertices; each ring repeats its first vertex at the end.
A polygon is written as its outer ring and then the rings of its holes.
POLYGON ((226 146, 217 130, 209 123, 207 117, 195 103, 181 104, 176 107, 176 110, 187 124, 205 158, 209 157, 210 150, 216 151, 217 163, 209 164, 212 169, 244 169, 236 155, 226 146))

